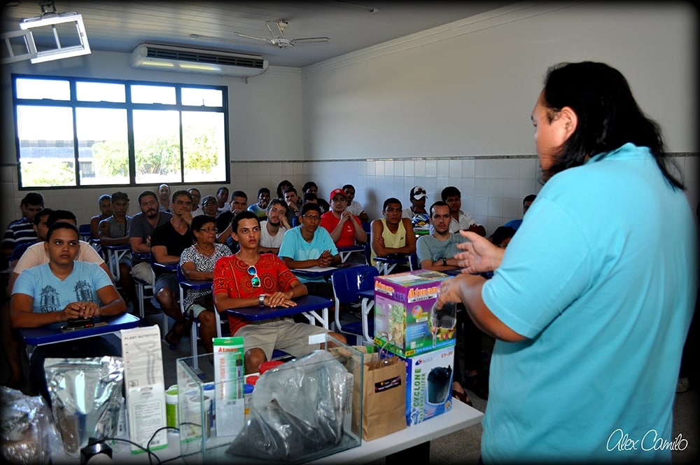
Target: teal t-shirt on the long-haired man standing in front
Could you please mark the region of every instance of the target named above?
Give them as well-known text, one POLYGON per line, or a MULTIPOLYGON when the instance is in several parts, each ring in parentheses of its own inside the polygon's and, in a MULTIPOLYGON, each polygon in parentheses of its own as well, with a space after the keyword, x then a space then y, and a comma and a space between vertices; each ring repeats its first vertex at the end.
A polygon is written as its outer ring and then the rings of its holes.
POLYGON ((654 440, 674 439, 696 297, 685 195, 625 144, 552 176, 527 215, 482 290, 528 338, 493 349, 484 462, 670 461, 654 440))

